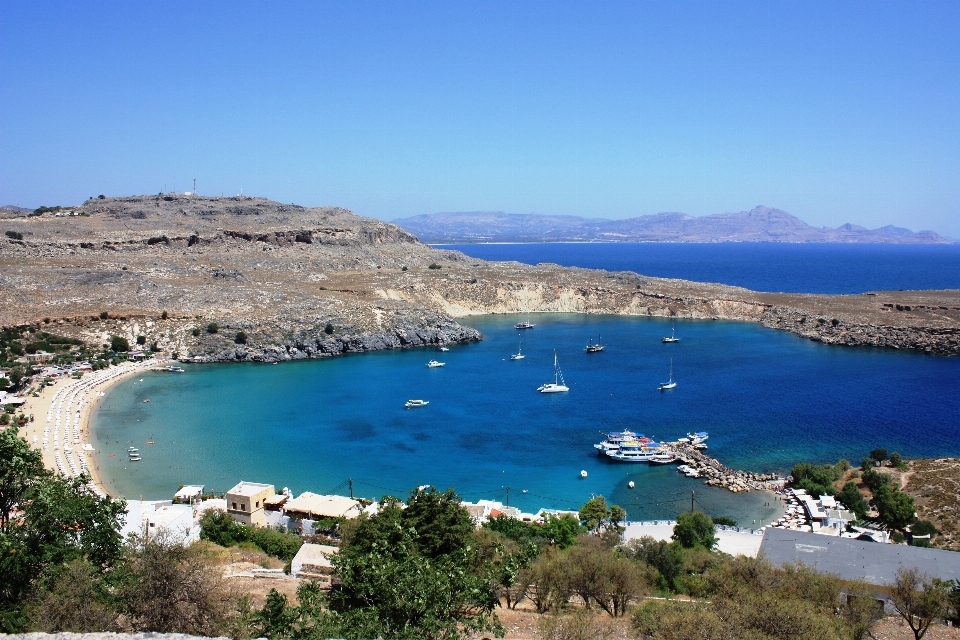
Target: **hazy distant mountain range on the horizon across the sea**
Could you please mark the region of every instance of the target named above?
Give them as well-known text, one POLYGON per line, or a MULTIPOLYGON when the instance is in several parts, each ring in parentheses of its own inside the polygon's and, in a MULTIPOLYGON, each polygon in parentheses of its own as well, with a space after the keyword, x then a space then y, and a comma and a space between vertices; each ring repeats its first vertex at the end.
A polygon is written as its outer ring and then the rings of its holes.
POLYGON ((421 242, 864 242, 950 244, 933 231, 888 225, 812 227, 786 211, 759 206, 740 213, 695 217, 657 213, 609 220, 502 211, 430 213, 394 220, 421 242))

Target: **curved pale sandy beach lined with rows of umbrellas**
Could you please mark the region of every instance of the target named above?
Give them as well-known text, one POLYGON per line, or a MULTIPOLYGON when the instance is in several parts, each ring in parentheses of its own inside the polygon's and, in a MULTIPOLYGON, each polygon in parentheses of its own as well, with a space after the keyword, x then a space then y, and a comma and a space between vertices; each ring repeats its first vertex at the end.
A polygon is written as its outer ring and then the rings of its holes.
POLYGON ((23 413, 32 416, 21 435, 43 455, 43 464, 67 476, 86 472, 93 488, 107 493, 97 472, 99 453, 84 449, 90 442, 90 414, 111 386, 134 374, 159 366, 157 360, 125 362, 109 369, 87 372, 81 378, 64 377, 44 387, 39 397, 28 398, 23 413))

